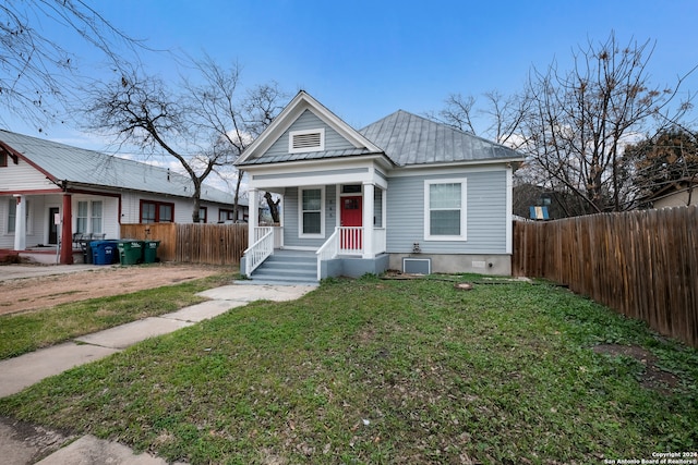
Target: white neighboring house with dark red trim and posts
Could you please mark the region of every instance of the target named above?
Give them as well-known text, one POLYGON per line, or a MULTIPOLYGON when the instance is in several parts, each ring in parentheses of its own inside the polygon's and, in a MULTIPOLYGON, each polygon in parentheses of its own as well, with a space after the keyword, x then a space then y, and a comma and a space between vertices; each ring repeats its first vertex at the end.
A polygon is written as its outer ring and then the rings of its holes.
MULTIPOLYGON (((193 184, 188 176, 94 150, 0 130, 0 250, 72 264, 74 234, 120 238, 120 224, 191 223, 193 184), (50 249, 52 248, 52 253, 50 249)), ((248 203, 233 218, 232 195, 204 186, 204 222, 246 220, 248 203)))

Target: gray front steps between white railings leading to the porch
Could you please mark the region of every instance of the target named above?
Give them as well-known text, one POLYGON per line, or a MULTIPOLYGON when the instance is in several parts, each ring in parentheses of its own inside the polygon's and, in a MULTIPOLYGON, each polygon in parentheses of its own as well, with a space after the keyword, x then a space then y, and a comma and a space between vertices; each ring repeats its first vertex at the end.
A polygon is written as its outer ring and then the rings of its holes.
POLYGON ((252 272, 252 283, 258 284, 317 284, 317 257, 314 252, 274 250, 252 272))

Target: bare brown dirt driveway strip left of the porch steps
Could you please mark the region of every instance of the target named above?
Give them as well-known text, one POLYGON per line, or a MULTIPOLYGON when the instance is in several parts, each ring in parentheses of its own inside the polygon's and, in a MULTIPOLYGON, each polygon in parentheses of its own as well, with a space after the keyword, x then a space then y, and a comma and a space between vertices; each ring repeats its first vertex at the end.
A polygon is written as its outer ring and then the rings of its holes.
POLYGON ((0 283, 0 315, 127 294, 230 271, 230 267, 154 264, 4 281, 0 283))

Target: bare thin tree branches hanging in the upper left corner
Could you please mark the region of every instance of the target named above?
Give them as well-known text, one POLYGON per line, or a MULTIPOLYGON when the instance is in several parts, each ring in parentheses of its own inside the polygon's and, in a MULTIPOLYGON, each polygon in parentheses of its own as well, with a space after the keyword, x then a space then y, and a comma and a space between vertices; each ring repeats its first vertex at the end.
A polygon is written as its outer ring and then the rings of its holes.
MULTIPOLYGON (((145 49, 81 0, 24 0, 0 3, 0 107, 38 126, 63 113, 87 79, 81 62, 61 42, 77 35, 111 69, 133 62, 145 49), (45 33, 55 23, 56 36, 45 33), (128 54, 129 57, 125 57, 128 54)), ((7 124, 0 115, 0 122, 7 124)))

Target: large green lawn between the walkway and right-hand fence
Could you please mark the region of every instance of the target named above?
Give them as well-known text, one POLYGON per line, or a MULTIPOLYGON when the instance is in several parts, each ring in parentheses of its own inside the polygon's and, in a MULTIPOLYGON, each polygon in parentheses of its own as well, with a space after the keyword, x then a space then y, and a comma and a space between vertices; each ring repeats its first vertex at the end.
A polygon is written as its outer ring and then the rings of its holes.
POLYGON ((137 344, 0 414, 193 464, 601 464, 698 449, 697 381, 698 351, 561 287, 363 278, 137 344), (648 351, 675 386, 598 344, 648 351))

